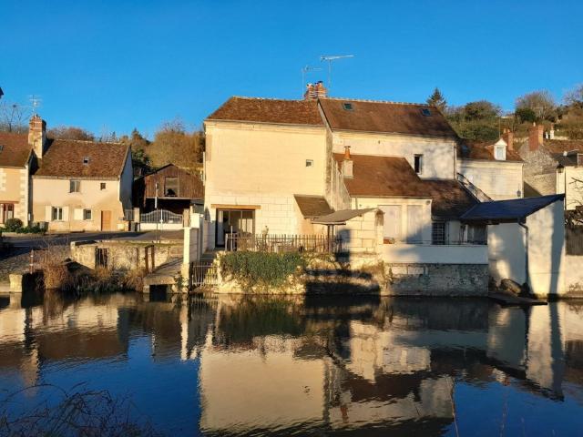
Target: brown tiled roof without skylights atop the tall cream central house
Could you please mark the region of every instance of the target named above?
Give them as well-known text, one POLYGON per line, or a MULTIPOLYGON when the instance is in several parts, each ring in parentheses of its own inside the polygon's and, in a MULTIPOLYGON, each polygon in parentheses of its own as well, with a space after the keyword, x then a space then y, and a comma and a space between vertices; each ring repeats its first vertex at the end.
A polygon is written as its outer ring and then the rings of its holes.
POLYGON ((323 126, 315 100, 230 97, 207 119, 323 126))

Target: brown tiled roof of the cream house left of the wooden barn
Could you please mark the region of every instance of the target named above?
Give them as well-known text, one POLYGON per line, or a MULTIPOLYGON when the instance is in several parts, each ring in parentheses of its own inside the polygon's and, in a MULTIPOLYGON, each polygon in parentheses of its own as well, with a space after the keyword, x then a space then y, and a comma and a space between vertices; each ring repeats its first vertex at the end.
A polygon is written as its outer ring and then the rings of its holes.
POLYGON ((49 139, 35 177, 119 178, 128 148, 116 143, 49 139))

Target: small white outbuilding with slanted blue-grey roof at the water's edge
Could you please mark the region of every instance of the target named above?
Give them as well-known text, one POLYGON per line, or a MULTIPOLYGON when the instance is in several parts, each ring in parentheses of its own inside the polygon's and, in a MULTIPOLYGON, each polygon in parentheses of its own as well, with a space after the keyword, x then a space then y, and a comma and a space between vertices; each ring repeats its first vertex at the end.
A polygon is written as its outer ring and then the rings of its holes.
POLYGON ((564 195, 483 202, 463 216, 486 225, 490 276, 512 279, 537 296, 563 293, 564 195))

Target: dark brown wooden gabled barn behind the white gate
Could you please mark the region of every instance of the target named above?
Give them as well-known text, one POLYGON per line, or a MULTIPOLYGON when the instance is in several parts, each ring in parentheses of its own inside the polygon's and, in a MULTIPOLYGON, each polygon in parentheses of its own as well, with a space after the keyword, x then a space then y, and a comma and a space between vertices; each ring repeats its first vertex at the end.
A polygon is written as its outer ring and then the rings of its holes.
POLYGON ((136 179, 133 198, 134 206, 146 213, 159 208, 182 214, 184 209, 202 207, 204 187, 199 175, 168 164, 136 179))

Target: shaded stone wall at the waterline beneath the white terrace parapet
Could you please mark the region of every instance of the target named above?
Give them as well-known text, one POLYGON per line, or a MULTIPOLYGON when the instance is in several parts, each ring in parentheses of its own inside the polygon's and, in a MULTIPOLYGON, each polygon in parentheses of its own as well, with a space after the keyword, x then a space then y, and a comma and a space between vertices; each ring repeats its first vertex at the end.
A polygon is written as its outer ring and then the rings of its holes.
POLYGON ((486 296, 486 264, 385 264, 384 294, 392 296, 486 296))

